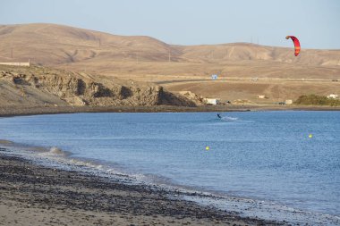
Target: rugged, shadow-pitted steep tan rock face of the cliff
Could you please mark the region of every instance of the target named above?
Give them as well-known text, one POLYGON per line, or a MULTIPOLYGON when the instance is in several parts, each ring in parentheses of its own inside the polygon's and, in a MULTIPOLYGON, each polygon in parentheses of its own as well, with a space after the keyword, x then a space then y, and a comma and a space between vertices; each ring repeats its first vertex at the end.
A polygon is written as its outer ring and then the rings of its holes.
POLYGON ((159 105, 159 96, 163 91, 161 87, 150 84, 103 84, 95 80, 57 75, 43 76, 35 86, 59 96, 71 105, 159 105))

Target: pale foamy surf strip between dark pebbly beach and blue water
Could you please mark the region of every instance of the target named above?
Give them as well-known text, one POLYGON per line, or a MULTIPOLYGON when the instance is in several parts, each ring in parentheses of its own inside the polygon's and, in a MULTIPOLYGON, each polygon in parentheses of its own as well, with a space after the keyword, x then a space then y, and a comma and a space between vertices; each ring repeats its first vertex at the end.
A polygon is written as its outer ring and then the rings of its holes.
MULTIPOLYGON (((1 143, 0 143, 1 144, 1 143)), ((113 178, 129 185, 144 185, 150 188, 160 188, 174 194, 175 198, 194 201, 200 205, 214 206, 228 213, 236 213, 242 217, 260 218, 268 221, 289 222, 292 224, 310 223, 322 225, 327 222, 329 225, 340 224, 340 217, 324 214, 311 213, 279 205, 268 200, 256 200, 247 197, 231 197, 225 194, 217 194, 213 191, 203 191, 197 188, 190 188, 176 185, 171 182, 162 181, 157 183, 150 177, 143 174, 130 174, 115 169, 112 165, 102 161, 85 158, 74 158, 71 152, 65 152, 58 147, 45 148, 24 146, 11 141, 4 142, 3 146, 12 147, 15 153, 30 159, 34 163, 47 167, 54 167, 66 171, 77 171, 95 174, 104 178, 113 178)), ((159 181, 158 181, 159 182, 159 181)))

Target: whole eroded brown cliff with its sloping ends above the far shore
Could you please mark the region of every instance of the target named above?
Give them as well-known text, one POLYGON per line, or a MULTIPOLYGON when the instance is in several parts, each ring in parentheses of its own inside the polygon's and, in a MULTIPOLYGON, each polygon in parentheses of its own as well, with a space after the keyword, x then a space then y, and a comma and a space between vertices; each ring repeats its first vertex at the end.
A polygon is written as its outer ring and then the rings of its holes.
MULTIPOLYGON (((13 70, 13 67, 0 68, 0 84, 7 90, 13 88, 12 92, 7 94, 3 89, 3 94, 0 91, 0 95, 14 96, 13 99, 17 95, 21 102, 25 98, 30 102, 33 97, 48 99, 48 95, 52 95, 65 105, 196 105, 185 96, 173 95, 152 83, 99 76, 93 79, 94 76, 41 67, 14 69, 16 70, 13 70)), ((54 101, 46 103, 54 104, 54 101)))

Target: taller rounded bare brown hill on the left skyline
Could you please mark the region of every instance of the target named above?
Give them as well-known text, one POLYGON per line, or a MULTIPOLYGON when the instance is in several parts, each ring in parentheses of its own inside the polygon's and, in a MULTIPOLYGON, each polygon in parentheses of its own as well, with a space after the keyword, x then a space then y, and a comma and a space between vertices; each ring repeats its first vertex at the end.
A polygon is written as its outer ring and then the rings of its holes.
POLYGON ((55 24, 0 26, 0 60, 28 60, 55 65, 81 61, 122 58, 166 61, 175 48, 155 38, 123 37, 55 24), (13 53, 11 53, 13 51, 13 53), (13 59, 12 59, 13 57, 13 59))

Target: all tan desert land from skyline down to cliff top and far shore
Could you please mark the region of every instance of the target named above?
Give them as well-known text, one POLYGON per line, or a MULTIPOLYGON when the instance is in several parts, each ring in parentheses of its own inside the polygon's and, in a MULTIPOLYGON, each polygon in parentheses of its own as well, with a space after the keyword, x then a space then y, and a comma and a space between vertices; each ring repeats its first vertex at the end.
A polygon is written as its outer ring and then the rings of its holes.
MULTIPOLYGON (((283 38, 286 41, 290 40, 283 38)), ((0 62, 29 60, 62 71, 154 82, 170 91, 223 100, 257 102, 256 96, 266 95, 265 102, 273 103, 303 94, 340 92, 336 81, 340 80, 340 50, 304 49, 303 41, 302 52, 295 57, 293 45, 175 46, 155 38, 55 24, 0 26, 0 62), (211 74, 219 75, 217 82, 211 81, 211 74)))

